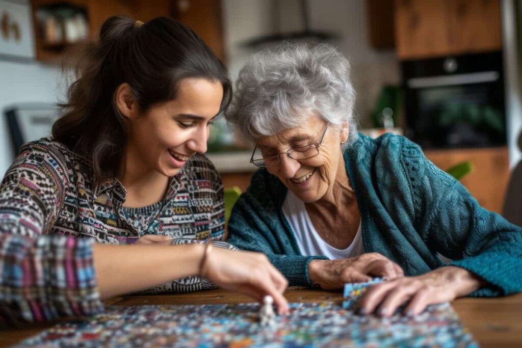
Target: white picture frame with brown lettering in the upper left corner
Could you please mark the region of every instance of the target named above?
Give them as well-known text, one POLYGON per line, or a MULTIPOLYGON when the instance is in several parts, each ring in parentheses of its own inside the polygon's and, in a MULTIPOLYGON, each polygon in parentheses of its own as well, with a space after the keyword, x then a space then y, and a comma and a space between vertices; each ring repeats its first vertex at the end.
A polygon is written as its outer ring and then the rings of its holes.
POLYGON ((0 0, 0 59, 34 60, 31 16, 28 0, 0 0))

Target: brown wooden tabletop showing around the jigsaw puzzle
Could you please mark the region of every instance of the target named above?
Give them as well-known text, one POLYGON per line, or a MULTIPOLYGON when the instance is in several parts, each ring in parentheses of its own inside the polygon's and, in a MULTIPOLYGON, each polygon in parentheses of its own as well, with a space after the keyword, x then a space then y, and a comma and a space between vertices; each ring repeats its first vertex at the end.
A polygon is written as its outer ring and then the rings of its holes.
MULTIPOLYGON (((285 293, 289 302, 342 301, 339 292, 291 288, 285 293)), ((189 294, 131 295, 111 298, 105 303, 116 306, 220 304, 253 302, 250 297, 224 290, 189 294)), ((464 326, 482 347, 522 346, 522 294, 499 298, 460 298, 452 303, 464 326)), ((49 328, 53 324, 24 328, 0 327, 0 346, 15 344, 49 328)))

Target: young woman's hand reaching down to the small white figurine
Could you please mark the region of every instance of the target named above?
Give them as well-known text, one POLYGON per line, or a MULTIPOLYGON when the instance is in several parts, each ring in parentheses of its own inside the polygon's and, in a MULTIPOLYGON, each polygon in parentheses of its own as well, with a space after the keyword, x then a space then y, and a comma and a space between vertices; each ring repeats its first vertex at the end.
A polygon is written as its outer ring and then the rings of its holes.
POLYGON ((226 290, 238 291, 263 301, 274 297, 279 314, 287 314, 284 290, 288 281, 262 253, 213 248, 204 260, 200 276, 226 290))

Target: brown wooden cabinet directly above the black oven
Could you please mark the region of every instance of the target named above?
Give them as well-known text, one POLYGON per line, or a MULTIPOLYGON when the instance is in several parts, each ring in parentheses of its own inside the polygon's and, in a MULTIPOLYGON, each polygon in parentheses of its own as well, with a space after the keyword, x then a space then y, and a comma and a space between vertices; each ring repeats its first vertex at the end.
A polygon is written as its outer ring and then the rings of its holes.
POLYGON ((502 49, 500 0, 395 0, 401 59, 502 49))

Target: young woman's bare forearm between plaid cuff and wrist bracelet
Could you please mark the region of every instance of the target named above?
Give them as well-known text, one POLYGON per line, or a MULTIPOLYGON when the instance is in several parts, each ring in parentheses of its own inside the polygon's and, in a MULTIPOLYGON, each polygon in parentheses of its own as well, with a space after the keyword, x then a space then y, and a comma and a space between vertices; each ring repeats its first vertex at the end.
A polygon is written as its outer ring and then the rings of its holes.
POLYGON ((94 245, 94 268, 102 298, 136 292, 199 272, 205 246, 94 245), (130 281, 129 281, 130 280, 130 281))

